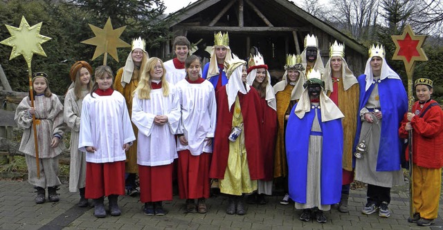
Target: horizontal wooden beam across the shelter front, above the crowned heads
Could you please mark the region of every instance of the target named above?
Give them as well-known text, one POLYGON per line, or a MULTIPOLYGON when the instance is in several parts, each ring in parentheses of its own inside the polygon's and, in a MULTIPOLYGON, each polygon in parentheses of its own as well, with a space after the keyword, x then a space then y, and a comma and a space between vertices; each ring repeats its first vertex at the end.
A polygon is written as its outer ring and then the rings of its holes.
POLYGON ((238 26, 175 26, 177 30, 188 31, 228 31, 228 32, 293 32, 309 31, 309 28, 301 27, 238 27, 238 26))

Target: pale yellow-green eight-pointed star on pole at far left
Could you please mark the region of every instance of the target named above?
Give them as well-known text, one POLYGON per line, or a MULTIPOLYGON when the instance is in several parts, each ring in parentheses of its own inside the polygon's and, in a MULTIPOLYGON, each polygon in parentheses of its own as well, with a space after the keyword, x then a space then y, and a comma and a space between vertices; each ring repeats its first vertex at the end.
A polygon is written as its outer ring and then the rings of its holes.
POLYGON ((28 68, 33 59, 33 55, 42 55, 46 57, 46 53, 42 48, 42 44, 49 41, 51 37, 40 35, 40 29, 42 28, 42 22, 29 26, 25 17, 21 17, 19 28, 14 26, 5 25, 11 37, 0 41, 0 44, 6 46, 12 46, 12 52, 9 59, 14 59, 19 55, 23 55, 28 68))

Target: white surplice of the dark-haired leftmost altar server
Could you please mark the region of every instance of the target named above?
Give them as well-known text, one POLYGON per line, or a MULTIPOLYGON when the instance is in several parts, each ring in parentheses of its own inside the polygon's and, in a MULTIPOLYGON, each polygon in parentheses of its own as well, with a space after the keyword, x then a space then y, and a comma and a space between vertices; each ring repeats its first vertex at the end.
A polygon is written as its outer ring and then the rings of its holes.
POLYGON ((107 163, 126 160, 123 144, 136 140, 125 97, 114 90, 110 96, 96 93, 86 95, 82 103, 78 149, 86 152, 94 146, 94 153, 86 153, 86 161, 107 163))

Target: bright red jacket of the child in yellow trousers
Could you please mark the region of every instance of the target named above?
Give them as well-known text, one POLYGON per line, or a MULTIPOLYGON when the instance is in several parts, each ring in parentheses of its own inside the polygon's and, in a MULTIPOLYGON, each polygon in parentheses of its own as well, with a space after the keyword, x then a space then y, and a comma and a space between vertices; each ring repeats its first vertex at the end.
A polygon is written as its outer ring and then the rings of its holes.
MULTIPOLYGON (((440 105, 429 108, 423 117, 422 113, 430 104, 437 103, 434 100, 426 102, 420 108, 419 102, 415 102, 412 111, 415 113, 410 124, 413 126, 413 163, 428 169, 440 169, 443 166, 443 111, 440 105)), ((408 131, 404 126, 408 122, 406 114, 401 121, 399 135, 408 138, 408 131)), ((406 148, 406 160, 408 160, 408 148, 406 148)))

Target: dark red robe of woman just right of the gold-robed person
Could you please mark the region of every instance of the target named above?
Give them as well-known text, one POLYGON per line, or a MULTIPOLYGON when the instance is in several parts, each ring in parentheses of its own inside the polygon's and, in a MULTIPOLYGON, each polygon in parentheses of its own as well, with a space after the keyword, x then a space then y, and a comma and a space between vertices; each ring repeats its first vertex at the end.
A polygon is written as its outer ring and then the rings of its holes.
POLYGON ((261 144, 262 154, 264 157, 264 179, 265 181, 274 178, 274 152, 275 141, 277 139, 277 111, 268 106, 266 99, 260 99, 260 106, 262 106, 262 132, 261 144))

